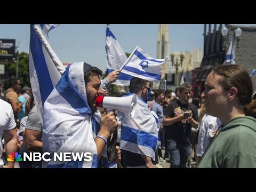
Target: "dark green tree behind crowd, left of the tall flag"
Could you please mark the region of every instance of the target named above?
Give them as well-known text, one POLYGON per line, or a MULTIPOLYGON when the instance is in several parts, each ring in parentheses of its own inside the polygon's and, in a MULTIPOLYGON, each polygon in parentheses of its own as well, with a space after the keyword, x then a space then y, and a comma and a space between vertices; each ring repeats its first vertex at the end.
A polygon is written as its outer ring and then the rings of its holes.
MULTIPOLYGON (((21 83, 23 86, 31 86, 30 85, 30 80, 29 80, 29 64, 28 64, 28 53, 26 52, 21 52, 18 53, 19 55, 19 70, 18 70, 18 77, 21 80, 21 83), (23 56, 23 57, 22 57, 23 56)), ((17 59, 17 54, 16 54, 16 59, 17 59)), ((16 76, 16 69, 17 69, 17 61, 11 62, 9 65, 6 65, 6 71, 9 74, 9 77, 11 76, 16 76)))

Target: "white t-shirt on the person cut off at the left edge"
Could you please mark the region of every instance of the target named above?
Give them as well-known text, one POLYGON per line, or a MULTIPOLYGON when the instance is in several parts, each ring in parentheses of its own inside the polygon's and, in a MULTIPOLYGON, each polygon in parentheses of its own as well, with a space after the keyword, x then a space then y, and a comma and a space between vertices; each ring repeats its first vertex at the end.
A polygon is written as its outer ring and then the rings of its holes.
MULTIPOLYGON (((12 130, 16 126, 12 106, 0 99, 0 139, 3 140, 4 130, 12 130)), ((3 145, 0 142, 0 159, 2 158, 3 145)))

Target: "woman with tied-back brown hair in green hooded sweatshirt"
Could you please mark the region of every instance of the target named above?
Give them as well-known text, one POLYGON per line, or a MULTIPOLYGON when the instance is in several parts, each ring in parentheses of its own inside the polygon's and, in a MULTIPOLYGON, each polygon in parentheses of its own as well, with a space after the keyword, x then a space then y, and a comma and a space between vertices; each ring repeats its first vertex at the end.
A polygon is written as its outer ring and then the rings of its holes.
POLYGON ((197 167, 256 167, 256 102, 252 81, 237 65, 214 68, 205 81, 206 113, 222 123, 197 167))

